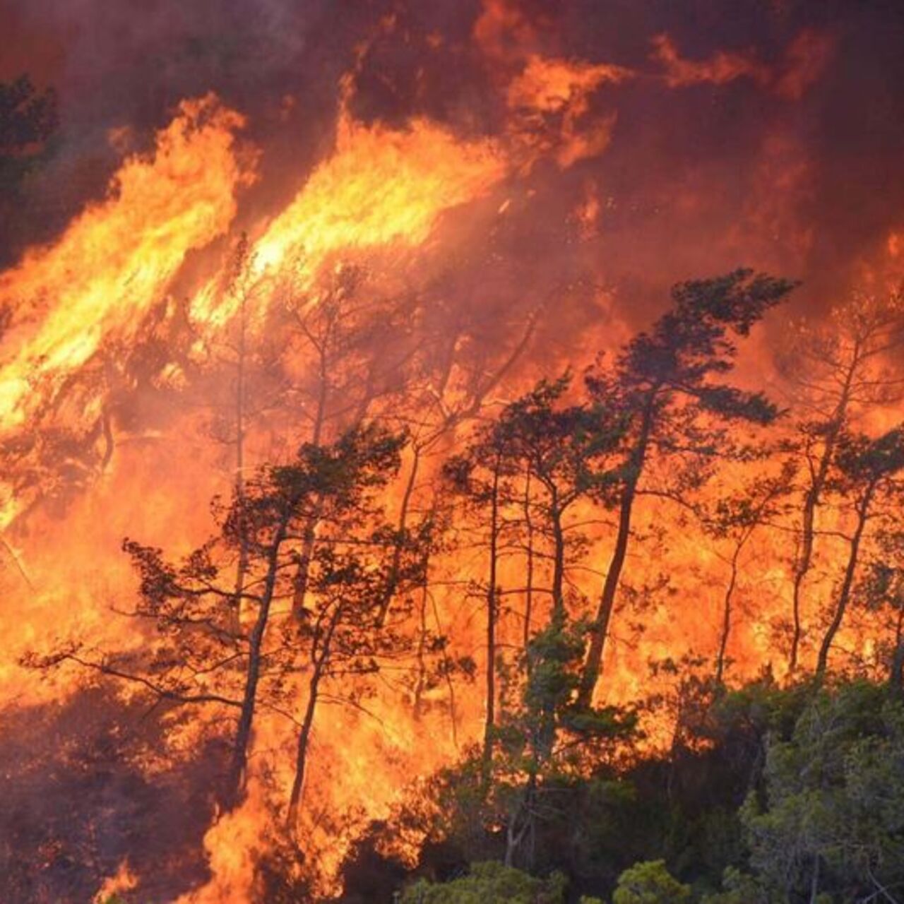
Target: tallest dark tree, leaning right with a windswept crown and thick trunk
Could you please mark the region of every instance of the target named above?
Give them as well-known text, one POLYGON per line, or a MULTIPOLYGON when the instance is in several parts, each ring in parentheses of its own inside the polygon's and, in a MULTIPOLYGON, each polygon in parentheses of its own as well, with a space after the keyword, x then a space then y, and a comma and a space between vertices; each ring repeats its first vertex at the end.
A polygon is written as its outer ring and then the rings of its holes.
POLYGON ((722 454, 715 425, 726 421, 767 424, 777 415, 762 393, 720 381, 734 366, 736 337, 751 328, 794 288, 786 279, 739 269, 724 277, 680 283, 672 308, 648 333, 632 339, 615 363, 589 373, 602 406, 626 419, 617 534, 591 630, 580 683, 581 702, 592 698, 625 566, 636 500, 651 457, 722 454))

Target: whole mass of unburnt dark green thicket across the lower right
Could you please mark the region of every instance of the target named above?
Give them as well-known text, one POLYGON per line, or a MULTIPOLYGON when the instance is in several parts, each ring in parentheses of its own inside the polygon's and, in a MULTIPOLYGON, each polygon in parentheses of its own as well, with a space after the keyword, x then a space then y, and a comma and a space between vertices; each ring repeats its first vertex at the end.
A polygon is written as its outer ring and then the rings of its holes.
POLYGON ((531 739, 518 746, 513 732, 499 741, 488 788, 476 759, 448 770, 438 806, 448 832, 432 836, 453 844, 447 863, 466 852, 502 860, 509 828, 527 825, 535 871, 564 871, 575 894, 613 904, 848 904, 904 883, 904 703, 894 689, 783 689, 765 675, 691 708, 698 721, 667 756, 636 753, 625 768, 558 748, 574 709, 572 647, 554 631, 538 642, 532 699, 554 702, 558 752, 525 783, 537 764, 531 739))

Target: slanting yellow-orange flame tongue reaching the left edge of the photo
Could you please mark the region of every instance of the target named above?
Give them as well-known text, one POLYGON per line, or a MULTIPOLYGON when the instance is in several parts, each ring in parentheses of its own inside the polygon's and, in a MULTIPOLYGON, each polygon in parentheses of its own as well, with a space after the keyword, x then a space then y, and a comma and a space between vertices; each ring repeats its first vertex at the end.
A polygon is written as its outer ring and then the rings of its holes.
POLYGON ((22 424, 108 338, 128 340, 186 252, 223 234, 247 183, 235 147, 243 118, 208 95, 184 101, 151 159, 129 158, 106 201, 61 240, 0 278, 18 324, 0 370, 0 422, 22 424))

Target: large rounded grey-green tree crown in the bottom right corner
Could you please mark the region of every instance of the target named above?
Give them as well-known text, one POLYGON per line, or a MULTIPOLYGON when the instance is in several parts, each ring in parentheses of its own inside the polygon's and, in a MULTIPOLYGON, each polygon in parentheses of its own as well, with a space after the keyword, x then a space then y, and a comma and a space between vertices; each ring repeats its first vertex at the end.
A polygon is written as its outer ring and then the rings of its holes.
POLYGON ((776 894, 867 894, 904 880, 904 710, 868 683, 817 692, 767 745, 742 809, 751 865, 776 894))

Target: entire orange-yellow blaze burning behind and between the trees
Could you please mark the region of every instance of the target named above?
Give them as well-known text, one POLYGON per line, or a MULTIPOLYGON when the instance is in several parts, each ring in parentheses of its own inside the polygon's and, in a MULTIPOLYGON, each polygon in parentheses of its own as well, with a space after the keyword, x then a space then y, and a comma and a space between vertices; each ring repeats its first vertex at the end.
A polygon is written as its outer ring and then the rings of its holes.
MULTIPOLYGON (((273 672, 287 664, 278 677, 264 669, 268 703, 254 712, 240 798, 212 805, 202 839, 209 871, 187 883, 179 904, 260 899, 259 864, 274 837, 306 847, 320 889, 335 890, 355 834, 390 815, 414 780, 481 740, 484 679, 494 658, 485 649, 475 591, 487 580, 486 551, 474 537, 486 525, 464 506, 440 511, 447 459, 475 443, 480 429, 537 381, 570 370, 570 389, 557 402, 570 404, 598 353, 617 361, 619 349, 651 328, 670 282, 749 263, 758 272, 803 277, 800 291, 810 291, 805 270, 816 240, 806 212, 816 165, 786 131, 782 111, 804 103, 832 70, 833 33, 799 30, 770 57, 735 47, 691 58, 676 38, 655 31, 633 59, 591 59, 530 6, 485 0, 466 29, 448 35, 418 33, 404 16, 372 23, 333 80, 329 140, 320 137, 322 153, 297 170, 281 161, 275 175, 268 165, 258 110, 212 92, 180 99, 165 124, 148 130, 154 138, 146 149, 119 162, 103 197, 0 274, 0 306, 11 312, 0 345, 3 605, 16 613, 5 616, 0 653, 0 701, 9 707, 65 705, 109 685, 125 712, 153 692, 171 651, 165 631, 135 617, 143 575, 122 551, 123 539, 179 560, 216 534, 231 494, 253 496, 258 468, 287 466, 301 444, 330 447, 365 423, 404 429, 398 469, 375 491, 374 504, 400 532, 446 522, 447 541, 424 553, 427 577, 401 591, 404 605, 388 604, 387 630, 413 638, 405 655, 386 656, 372 672, 325 677, 300 810, 288 829, 315 666, 291 652, 298 579, 274 598, 261 650, 273 672), (379 69, 381 42, 426 53, 411 85, 400 84, 404 73, 398 81, 391 70, 378 72, 383 81, 368 74, 368 65, 379 69), (429 90, 431 52, 480 71, 484 110, 419 102, 429 90), (418 102, 383 116, 376 100, 368 108, 368 78, 418 102), (622 119, 631 118, 622 99, 642 90, 657 98, 743 90, 781 108, 773 134, 758 136, 749 167, 770 196, 746 195, 730 228, 695 231, 720 192, 701 183, 724 175, 731 161, 687 166, 669 187, 675 219, 651 226, 668 233, 667 240, 654 236, 666 249, 662 261, 635 246, 647 241, 643 225, 665 203, 668 161, 638 147, 653 200, 617 188, 617 166, 631 156, 619 146, 622 119), (609 167, 610 155, 617 166, 609 167), (674 234, 675 224, 691 224, 692 234, 674 234), (551 235, 559 241, 551 243, 551 235), (688 250, 673 251, 673 244, 688 250), (739 261, 747 248, 751 258, 739 261), (788 266, 794 269, 786 272, 788 266), (54 656, 52 668, 34 667, 54 656), (151 677, 131 680, 142 663, 153 664, 151 677)), ((830 325, 833 333, 821 341, 837 342, 832 354, 839 358, 849 355, 845 342, 861 340, 844 339, 848 324, 833 322, 828 308, 843 306, 855 286, 869 304, 896 297, 900 235, 885 224, 862 240, 837 269, 838 297, 805 294, 812 308, 805 310, 789 291, 800 334, 830 325)), ((733 379, 741 389, 767 391, 791 412, 766 428, 776 447, 791 442, 805 409, 828 404, 794 396, 779 335, 791 321, 784 309, 767 312, 749 335, 728 340, 739 347, 733 379)), ((864 341, 878 346, 884 336, 864 341)), ((877 352, 857 379, 864 387, 885 379, 894 363, 877 352)), ((900 419, 891 395, 873 399, 864 388, 849 401, 845 417, 872 436, 900 419)), ((730 429, 740 444, 762 436, 747 423, 730 429)), ((814 439, 814 448, 821 441, 814 439)), ((794 541, 787 539, 797 510, 770 507, 772 497, 758 485, 758 513, 768 518, 748 523, 746 533, 711 521, 707 532, 689 506, 657 494, 669 477, 669 459, 657 454, 650 453, 645 471, 646 495, 638 496, 626 575, 591 697, 632 702, 667 689, 668 670, 651 676, 649 664, 683 656, 711 663, 719 654, 731 681, 764 668, 784 679, 793 611, 812 627, 795 643, 807 667, 815 664, 815 626, 835 593, 843 542, 816 544, 798 608, 800 560, 789 554, 794 541)), ((744 492, 751 475, 777 480, 777 470, 739 456, 684 489, 700 510, 715 511, 720 499, 744 492)), ((519 487, 541 498, 541 487, 519 487)), ((515 523, 520 503, 506 505, 503 521, 515 523)), ((617 548, 616 511, 587 496, 568 513, 569 530, 585 535, 569 553, 564 591, 576 615, 595 615, 617 548)), ((310 548, 329 536, 319 509, 307 518, 315 526, 309 535, 298 529, 285 574, 302 570, 310 548)), ((851 529, 841 505, 826 505, 819 518, 825 532, 851 529)), ((506 593, 495 643, 500 662, 511 667, 512 651, 532 628, 523 612, 525 541, 519 534, 506 542, 494 571, 493 586, 506 593)), ((542 548, 530 567, 540 588, 553 566, 546 540, 537 542, 542 548)), ((399 569, 397 561, 388 567, 399 569)), ((250 566, 247 573, 257 579, 250 566)), ((543 598, 532 616, 538 627, 551 607, 545 590, 535 595, 543 598)), ((251 599, 236 604, 232 628, 241 644, 250 643, 258 617, 258 598, 251 599)), ((879 617, 845 617, 835 646, 880 670, 878 624, 879 617)), ((376 662, 381 653, 362 656, 376 662)), ((205 744, 222 740, 224 725, 231 730, 236 713, 214 698, 239 694, 244 673, 220 674, 193 674, 186 686, 210 699, 194 706, 191 718, 177 706, 163 717, 165 736, 145 751, 147 775, 190 763, 205 744)), ((166 699, 177 697, 169 692, 166 699)), ((667 739, 669 718, 649 721, 649 743, 667 739)), ((413 856, 413 848, 400 846, 413 856)), ((98 893, 140 894, 144 881, 130 852, 99 877, 98 893)))

